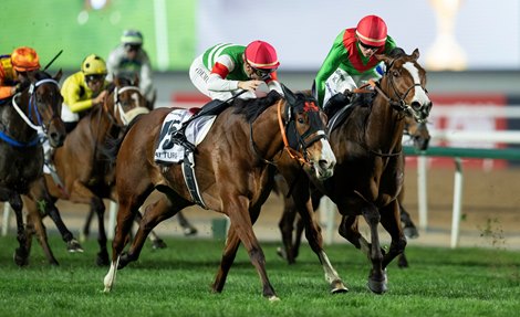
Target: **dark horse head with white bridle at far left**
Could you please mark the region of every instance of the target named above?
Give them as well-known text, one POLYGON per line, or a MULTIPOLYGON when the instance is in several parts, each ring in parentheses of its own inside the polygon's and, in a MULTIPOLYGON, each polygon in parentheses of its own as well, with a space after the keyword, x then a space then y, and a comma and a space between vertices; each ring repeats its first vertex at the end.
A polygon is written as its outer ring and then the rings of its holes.
MULTIPOLYGON (((27 105, 27 124, 37 131, 43 131, 51 147, 61 147, 66 136, 65 126, 61 119, 63 97, 59 81, 60 70, 52 77, 43 71, 30 72, 30 86, 21 95, 21 104, 27 105)), ((13 104, 17 97, 13 98, 13 104)))

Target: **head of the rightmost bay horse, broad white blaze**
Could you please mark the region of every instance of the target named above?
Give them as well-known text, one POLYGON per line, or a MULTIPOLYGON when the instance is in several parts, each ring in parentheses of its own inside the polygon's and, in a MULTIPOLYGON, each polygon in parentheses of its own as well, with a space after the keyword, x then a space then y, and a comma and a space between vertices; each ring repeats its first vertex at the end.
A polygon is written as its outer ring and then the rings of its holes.
POLYGON ((396 47, 389 55, 377 54, 376 57, 386 64, 381 86, 386 87, 391 105, 418 123, 426 123, 431 101, 426 91, 426 71, 417 63, 419 50, 407 55, 396 47))

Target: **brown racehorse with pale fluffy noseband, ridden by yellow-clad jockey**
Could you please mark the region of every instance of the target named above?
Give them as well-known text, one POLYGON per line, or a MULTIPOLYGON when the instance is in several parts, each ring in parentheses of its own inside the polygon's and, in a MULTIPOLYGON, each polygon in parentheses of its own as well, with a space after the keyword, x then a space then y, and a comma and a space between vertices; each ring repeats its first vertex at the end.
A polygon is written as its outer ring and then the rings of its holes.
MULTIPOLYGON (((133 118, 149 112, 145 107, 146 99, 135 84, 115 77, 114 83, 107 89, 110 94, 103 106, 93 107, 82 117, 77 126, 66 136, 63 147, 54 151, 55 175, 45 173, 44 181, 40 181, 31 188, 33 196, 46 198, 45 213, 56 209, 54 203, 58 199, 91 205, 91 210, 97 214, 98 221, 97 265, 110 263, 106 250, 103 199, 116 200, 114 166, 107 159, 107 142, 121 137, 133 118)), ((30 214, 40 223, 41 216, 39 216, 37 204, 28 207, 30 207, 30 214)), ((73 239, 63 222, 55 221, 55 224, 65 242, 73 239)), ((42 224, 37 225, 42 226, 42 224)), ((39 240, 46 241, 44 230, 39 232, 39 240)), ((51 263, 58 264, 52 254, 48 254, 48 257, 51 263)))

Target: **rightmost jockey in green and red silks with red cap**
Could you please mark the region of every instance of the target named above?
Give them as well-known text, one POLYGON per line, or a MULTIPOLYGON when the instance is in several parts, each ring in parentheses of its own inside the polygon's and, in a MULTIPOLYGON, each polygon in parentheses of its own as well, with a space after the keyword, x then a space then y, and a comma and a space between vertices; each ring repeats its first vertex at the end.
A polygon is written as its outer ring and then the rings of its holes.
POLYGON ((389 53, 395 46, 385 21, 377 15, 367 15, 356 28, 342 31, 314 80, 314 94, 323 109, 346 104, 346 91, 381 78, 375 54, 389 53))

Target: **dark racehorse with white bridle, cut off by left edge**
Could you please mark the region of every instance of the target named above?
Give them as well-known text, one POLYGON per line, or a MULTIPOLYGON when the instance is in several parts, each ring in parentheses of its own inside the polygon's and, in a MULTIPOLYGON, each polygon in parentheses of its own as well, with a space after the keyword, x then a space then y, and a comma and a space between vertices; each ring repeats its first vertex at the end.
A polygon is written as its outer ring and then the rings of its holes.
POLYGON ((66 134, 60 118, 61 70, 54 77, 43 71, 30 72, 28 76, 30 86, 0 106, 0 201, 8 201, 15 213, 20 245, 14 263, 19 266, 29 263, 21 196, 29 194, 42 175, 43 139, 51 147, 60 147, 66 134))

